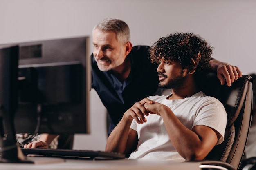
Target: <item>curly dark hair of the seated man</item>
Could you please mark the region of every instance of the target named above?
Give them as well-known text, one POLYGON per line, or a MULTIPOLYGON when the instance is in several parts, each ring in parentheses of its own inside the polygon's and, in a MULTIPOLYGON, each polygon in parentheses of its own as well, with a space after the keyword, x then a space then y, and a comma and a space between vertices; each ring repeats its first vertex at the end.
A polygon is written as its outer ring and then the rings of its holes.
POLYGON ((165 62, 178 62, 188 71, 195 69, 193 75, 200 85, 209 72, 213 48, 193 33, 174 33, 160 38, 149 51, 151 62, 159 64, 159 60, 164 59, 165 62))

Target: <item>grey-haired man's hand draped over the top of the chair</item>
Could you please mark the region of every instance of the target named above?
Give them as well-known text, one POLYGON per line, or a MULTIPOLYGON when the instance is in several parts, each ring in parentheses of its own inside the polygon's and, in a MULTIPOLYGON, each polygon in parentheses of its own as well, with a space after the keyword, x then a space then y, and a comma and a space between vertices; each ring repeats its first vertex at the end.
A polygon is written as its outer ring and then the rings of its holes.
POLYGON ((231 83, 242 77, 243 73, 237 66, 232 66, 228 63, 220 62, 216 59, 210 60, 211 68, 217 72, 217 77, 220 84, 231 86, 231 83))

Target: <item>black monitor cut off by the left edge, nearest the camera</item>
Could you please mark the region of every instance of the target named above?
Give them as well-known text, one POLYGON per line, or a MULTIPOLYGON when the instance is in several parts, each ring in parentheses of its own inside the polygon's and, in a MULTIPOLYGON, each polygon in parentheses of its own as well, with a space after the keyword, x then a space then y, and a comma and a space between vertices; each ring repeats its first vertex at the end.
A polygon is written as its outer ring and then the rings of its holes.
POLYGON ((18 46, 0 46, 0 147, 1 162, 18 161, 13 124, 17 110, 18 46))

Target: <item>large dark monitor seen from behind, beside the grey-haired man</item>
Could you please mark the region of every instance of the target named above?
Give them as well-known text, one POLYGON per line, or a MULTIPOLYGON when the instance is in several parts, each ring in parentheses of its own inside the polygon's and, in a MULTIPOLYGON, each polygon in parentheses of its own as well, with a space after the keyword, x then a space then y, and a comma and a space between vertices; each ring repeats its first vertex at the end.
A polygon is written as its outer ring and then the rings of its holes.
MULTIPOLYGON (((4 82, 0 86, 0 118, 8 122, 3 124, 10 125, 8 132, 11 128, 14 134, 90 132, 87 42, 88 37, 63 38, 9 44, 0 49, 0 66, 4 66, 0 70, 0 82, 4 82), (7 91, 2 95, 9 88, 13 94, 7 91), (13 100, 7 101, 6 96, 12 96, 13 100), (17 107, 2 110, 2 103, 6 102, 17 107)), ((4 139, 7 132, 1 134, 4 139)), ((2 142, 0 145, 4 146, 2 142)))

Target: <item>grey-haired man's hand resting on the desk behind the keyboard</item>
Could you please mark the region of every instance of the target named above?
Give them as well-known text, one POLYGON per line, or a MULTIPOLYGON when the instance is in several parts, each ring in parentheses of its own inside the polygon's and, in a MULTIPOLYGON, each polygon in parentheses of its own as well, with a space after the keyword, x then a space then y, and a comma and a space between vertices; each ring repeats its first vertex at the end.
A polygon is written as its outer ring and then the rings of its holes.
POLYGON ((23 148, 49 148, 49 145, 58 135, 43 133, 39 140, 25 144, 23 148))

